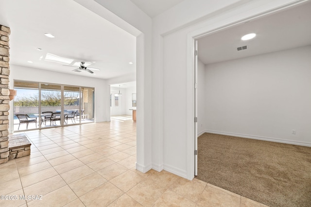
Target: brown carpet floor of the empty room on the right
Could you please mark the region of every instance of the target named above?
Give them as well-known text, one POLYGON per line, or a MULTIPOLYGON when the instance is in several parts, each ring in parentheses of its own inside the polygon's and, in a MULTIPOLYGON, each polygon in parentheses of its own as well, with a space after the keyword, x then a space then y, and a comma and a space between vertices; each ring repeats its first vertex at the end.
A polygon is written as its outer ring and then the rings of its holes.
POLYGON ((311 207, 311 147, 205 133, 196 178, 270 207, 311 207))

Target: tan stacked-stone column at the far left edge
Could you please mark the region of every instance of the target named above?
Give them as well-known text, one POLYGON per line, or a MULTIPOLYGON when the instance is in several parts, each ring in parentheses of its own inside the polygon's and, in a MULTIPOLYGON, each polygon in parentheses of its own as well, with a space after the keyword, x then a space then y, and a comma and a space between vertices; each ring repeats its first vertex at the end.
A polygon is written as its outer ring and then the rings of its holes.
POLYGON ((10 28, 0 25, 0 164, 9 160, 9 35, 10 28))

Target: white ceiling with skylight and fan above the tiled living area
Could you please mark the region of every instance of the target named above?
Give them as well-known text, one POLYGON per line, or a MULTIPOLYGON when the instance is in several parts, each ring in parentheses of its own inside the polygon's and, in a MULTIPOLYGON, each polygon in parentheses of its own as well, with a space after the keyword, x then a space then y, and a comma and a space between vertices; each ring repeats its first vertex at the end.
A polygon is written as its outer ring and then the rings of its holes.
POLYGON ((0 24, 11 28, 10 64, 100 79, 136 73, 136 37, 73 0, 1 0, 0 24), (101 70, 73 72, 65 59, 101 70))

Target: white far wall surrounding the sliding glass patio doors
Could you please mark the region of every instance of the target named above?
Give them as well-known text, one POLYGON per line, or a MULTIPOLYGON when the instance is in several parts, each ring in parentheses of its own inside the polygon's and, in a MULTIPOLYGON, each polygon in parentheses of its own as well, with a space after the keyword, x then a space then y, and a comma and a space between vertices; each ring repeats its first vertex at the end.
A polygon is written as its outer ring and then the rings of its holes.
MULTIPOLYGON (((94 79, 71 74, 52 72, 49 70, 36 69, 10 64, 10 88, 14 87, 14 80, 28 80, 38 82, 50 82, 58 84, 68 84, 76 86, 84 86, 95 88, 95 122, 103 122, 110 120, 110 113, 106 109, 110 108, 109 87, 106 80, 94 79)), ((13 114, 13 102, 10 102, 10 115, 13 114)), ((13 115, 12 115, 13 116, 13 115)), ((13 126, 13 118, 10 119, 10 125, 13 126)), ((9 128, 12 133, 13 128, 9 128)))

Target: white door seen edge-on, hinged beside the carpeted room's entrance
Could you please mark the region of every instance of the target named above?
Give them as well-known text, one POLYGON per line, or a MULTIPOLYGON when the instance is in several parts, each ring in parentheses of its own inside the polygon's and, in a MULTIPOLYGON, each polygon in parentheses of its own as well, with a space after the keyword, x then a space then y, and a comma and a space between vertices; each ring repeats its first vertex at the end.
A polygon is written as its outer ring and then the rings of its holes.
POLYGON ((198 41, 194 44, 194 175, 198 175, 198 41))

